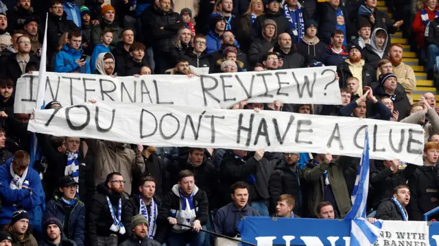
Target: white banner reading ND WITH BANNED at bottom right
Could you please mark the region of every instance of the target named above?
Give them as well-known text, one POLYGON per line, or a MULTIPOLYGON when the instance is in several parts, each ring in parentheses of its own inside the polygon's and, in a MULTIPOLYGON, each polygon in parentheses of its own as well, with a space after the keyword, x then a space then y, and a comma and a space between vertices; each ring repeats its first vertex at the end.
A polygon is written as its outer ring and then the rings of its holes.
POLYGON ((375 246, 417 245, 429 243, 429 227, 426 221, 383 221, 383 229, 375 246))

